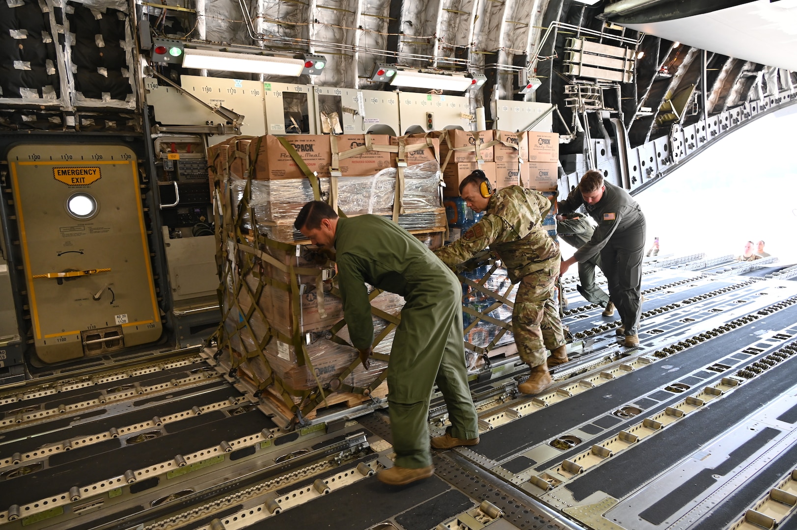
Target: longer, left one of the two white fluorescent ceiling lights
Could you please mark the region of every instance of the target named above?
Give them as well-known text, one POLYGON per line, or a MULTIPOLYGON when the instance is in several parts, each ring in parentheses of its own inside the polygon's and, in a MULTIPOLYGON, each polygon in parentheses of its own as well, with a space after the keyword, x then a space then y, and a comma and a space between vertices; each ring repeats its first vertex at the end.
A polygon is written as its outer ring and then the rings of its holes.
POLYGON ((186 48, 183 55, 183 68, 300 76, 304 69, 304 61, 287 57, 266 57, 248 53, 186 48))

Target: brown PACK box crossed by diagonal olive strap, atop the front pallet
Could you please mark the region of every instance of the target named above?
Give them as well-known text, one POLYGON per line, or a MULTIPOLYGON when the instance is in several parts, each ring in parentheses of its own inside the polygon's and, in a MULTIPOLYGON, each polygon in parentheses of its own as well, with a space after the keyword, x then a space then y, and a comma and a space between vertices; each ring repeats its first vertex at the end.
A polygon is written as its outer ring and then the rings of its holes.
MULTIPOLYGON (((305 175, 294 162, 285 147, 282 147, 277 136, 261 137, 260 150, 249 150, 249 158, 257 154, 255 163, 255 179, 304 179, 305 175)), ((321 178, 329 176, 329 164, 332 163, 332 149, 328 135, 286 135, 285 139, 296 148, 296 152, 307 164, 310 171, 316 171, 321 178)))

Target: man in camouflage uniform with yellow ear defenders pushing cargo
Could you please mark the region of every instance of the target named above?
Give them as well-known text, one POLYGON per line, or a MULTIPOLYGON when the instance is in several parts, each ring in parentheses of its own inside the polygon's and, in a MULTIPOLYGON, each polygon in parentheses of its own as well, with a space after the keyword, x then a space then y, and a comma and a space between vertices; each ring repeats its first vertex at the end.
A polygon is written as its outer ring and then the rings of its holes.
POLYGON ((552 383, 548 366, 568 360, 562 321, 553 300, 561 254, 540 224, 551 202, 520 186, 490 193, 485 183, 487 178, 480 170, 462 181, 461 198, 472 210, 485 211, 485 216, 462 238, 434 253, 453 267, 489 246, 503 261, 512 283, 520 282, 512 309, 512 333, 520 359, 532 370, 518 389, 537 394, 552 383), (546 349, 552 351, 547 363, 546 349))

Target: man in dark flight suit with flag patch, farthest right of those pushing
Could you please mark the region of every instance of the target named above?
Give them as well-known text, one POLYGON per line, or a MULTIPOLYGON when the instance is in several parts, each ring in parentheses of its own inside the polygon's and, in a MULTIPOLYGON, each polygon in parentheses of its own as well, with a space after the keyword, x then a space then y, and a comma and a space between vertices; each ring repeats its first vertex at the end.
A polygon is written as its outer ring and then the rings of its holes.
POLYGON ((579 185, 559 202, 559 211, 567 214, 579 206, 584 206, 598 228, 588 243, 562 261, 561 273, 576 261, 581 263, 600 253, 601 268, 609 281, 609 296, 622 320, 618 332, 625 335, 626 347, 638 346, 645 215, 626 190, 604 183, 603 175, 595 170, 584 173, 579 185))

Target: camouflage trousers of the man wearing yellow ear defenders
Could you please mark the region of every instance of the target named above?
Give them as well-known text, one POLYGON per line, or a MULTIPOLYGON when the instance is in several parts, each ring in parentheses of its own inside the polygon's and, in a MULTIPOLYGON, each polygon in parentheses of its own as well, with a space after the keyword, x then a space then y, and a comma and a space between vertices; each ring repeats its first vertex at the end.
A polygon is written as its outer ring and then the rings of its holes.
POLYGON ((512 333, 520 360, 531 367, 548 358, 546 350, 565 343, 562 320, 553 299, 559 259, 520 281, 512 310, 512 333))

